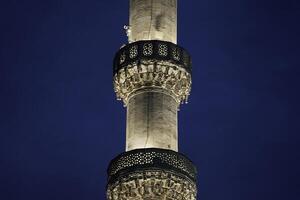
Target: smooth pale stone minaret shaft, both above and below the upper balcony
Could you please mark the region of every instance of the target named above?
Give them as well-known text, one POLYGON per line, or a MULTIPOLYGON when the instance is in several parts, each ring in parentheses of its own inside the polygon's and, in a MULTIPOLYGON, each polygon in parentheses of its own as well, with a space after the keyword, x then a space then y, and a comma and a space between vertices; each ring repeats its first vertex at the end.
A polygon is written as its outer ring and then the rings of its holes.
MULTIPOLYGON (((130 0, 129 28, 129 42, 161 40, 176 44, 176 0, 130 0)), ((154 68, 154 64, 142 67, 154 68)), ((159 64, 156 67, 161 68, 159 64)), ((154 147, 177 151, 177 110, 178 100, 166 88, 145 88, 131 94, 126 150, 154 147)))

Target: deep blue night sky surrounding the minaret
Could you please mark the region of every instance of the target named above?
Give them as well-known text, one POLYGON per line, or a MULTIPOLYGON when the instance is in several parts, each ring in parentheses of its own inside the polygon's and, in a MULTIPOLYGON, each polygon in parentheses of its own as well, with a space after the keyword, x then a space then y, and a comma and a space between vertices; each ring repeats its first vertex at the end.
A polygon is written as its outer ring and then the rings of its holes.
MULTIPOLYGON (((179 149, 198 199, 300 199, 299 0, 178 1, 193 58, 179 149)), ((112 61, 127 0, 0 3, 0 199, 105 200, 125 148, 112 61)))

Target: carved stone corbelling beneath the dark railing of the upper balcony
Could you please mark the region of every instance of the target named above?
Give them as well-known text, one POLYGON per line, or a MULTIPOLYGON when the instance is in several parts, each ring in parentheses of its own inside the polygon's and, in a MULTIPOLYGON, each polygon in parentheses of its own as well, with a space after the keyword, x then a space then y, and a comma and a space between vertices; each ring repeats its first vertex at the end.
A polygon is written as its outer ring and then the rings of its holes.
MULTIPOLYGON (((161 51, 164 52, 163 49, 161 51)), ((145 88, 165 89, 178 104, 184 103, 190 94, 191 75, 166 61, 144 60, 120 69, 114 76, 114 90, 118 100, 123 100, 125 106, 133 92, 145 88)))

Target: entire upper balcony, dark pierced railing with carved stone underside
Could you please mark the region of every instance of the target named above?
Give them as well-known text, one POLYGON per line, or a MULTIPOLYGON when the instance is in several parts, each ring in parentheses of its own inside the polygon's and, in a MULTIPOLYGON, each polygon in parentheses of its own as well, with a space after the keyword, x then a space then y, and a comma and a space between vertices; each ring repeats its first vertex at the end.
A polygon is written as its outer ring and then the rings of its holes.
POLYGON ((114 59, 114 89, 127 105, 141 88, 161 88, 178 103, 187 102, 191 90, 191 59, 181 47, 165 41, 139 41, 121 48, 114 59))

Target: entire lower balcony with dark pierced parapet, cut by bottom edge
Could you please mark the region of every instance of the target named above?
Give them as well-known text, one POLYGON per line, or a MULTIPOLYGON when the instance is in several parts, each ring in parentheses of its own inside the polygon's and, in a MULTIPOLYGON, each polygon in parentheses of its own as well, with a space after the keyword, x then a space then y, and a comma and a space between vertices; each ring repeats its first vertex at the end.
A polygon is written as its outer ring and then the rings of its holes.
POLYGON ((196 173, 193 163, 175 151, 128 151, 109 165, 107 199, 195 200, 196 173))

